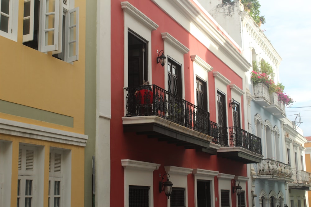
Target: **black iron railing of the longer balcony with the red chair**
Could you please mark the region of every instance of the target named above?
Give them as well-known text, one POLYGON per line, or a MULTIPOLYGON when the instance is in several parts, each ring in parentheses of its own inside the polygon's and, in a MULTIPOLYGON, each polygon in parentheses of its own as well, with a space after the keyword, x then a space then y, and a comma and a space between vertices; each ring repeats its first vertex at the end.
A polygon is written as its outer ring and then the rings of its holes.
POLYGON ((156 85, 125 89, 126 116, 155 115, 210 135, 210 114, 207 111, 156 85))

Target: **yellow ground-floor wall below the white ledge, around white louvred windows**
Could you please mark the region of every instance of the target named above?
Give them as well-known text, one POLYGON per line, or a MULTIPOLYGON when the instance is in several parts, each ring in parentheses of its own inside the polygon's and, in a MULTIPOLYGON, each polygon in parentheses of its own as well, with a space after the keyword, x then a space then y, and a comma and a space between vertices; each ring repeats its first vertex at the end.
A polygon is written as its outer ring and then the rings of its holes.
POLYGON ((48 206, 49 192, 49 150, 50 147, 71 150, 71 206, 84 206, 84 147, 63 143, 48 142, 25 137, 1 135, 1 140, 12 142, 12 188, 11 206, 16 206, 17 179, 18 179, 18 150, 19 143, 44 146, 44 206, 48 206))

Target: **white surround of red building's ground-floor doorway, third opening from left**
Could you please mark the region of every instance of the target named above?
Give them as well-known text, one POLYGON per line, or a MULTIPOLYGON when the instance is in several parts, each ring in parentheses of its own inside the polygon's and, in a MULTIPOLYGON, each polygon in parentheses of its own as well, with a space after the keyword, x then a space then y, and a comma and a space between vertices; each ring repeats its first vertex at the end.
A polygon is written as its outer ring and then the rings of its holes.
POLYGON ((215 182, 214 178, 218 175, 219 171, 205 170, 205 169, 193 169, 194 175, 194 201, 195 206, 197 207, 197 180, 206 180, 210 181, 211 184, 211 206, 215 206, 215 182))

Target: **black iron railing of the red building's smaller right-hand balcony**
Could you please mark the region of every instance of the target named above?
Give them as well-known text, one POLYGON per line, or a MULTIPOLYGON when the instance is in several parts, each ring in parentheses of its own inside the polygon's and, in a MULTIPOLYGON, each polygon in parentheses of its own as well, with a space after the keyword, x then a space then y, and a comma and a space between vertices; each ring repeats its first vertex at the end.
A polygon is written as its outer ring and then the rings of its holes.
POLYGON ((222 127, 219 131, 221 145, 242 147, 262 155, 261 138, 239 127, 222 127))

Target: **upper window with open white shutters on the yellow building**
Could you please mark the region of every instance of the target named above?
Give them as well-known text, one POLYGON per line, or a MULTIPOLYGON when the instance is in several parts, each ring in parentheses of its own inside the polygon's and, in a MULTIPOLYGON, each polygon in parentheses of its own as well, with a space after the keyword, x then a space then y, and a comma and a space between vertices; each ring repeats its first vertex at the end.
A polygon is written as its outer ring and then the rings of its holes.
POLYGON ((25 0, 23 44, 66 62, 78 60, 79 8, 67 1, 25 0), (57 54, 57 55, 56 55, 57 54))

